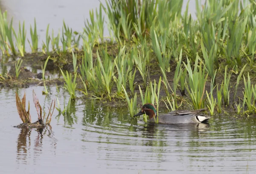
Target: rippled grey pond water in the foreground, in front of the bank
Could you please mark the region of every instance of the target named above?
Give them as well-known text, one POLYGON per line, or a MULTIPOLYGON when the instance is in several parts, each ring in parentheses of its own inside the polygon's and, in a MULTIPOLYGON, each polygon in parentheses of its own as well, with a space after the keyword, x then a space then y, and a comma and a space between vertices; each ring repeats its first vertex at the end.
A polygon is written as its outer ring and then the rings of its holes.
MULTIPOLYGON (((67 93, 55 87, 41 94, 43 108, 67 93)), ((151 125, 133 120, 126 107, 111 108, 93 100, 76 101, 70 116, 54 112, 43 131, 18 129, 16 89, 0 89, 0 173, 213 174, 256 171, 256 119, 214 116, 209 124, 151 125)), ((17 89, 23 96, 23 89, 17 89)), ((32 88, 32 121, 37 114, 32 88)), ((45 109, 47 110, 47 109, 45 109)), ((166 112, 166 110, 161 110, 166 112)))

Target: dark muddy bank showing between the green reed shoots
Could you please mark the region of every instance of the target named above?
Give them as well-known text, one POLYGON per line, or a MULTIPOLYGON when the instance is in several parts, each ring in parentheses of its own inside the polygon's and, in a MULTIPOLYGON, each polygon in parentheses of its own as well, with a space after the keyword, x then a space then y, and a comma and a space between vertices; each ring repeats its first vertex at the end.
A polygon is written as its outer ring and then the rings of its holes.
MULTIPOLYGON (((104 47, 100 47, 101 49, 104 47)), ((99 47, 95 47, 93 49, 93 60, 96 60, 96 50, 99 49, 99 47)), ((108 46, 107 48, 108 50, 108 54, 114 59, 117 54, 119 53, 119 48, 116 45, 111 45, 108 46)), ((82 60, 82 56, 84 55, 84 51, 76 51, 77 54, 77 65, 79 65, 81 63, 82 60)), ((149 85, 150 81, 154 81, 156 80, 158 82, 159 78, 162 76, 161 71, 159 66, 157 65, 156 59, 154 57, 154 54, 150 54, 151 58, 151 62, 150 64, 146 67, 148 68, 148 76, 147 76, 147 85, 149 85)), ((23 58, 23 64, 21 67, 21 71, 20 71, 20 75, 18 78, 15 77, 15 61, 9 61, 8 63, 6 63, 5 65, 7 66, 11 66, 10 71, 7 73, 6 76, 4 76, 4 79, 0 80, 0 87, 2 88, 13 88, 13 87, 20 87, 20 88, 27 88, 29 86, 43 86, 43 80, 42 78, 42 74, 39 73, 35 73, 33 71, 30 71, 29 69, 27 69, 26 67, 32 67, 38 70, 41 70, 41 67, 44 65, 45 61, 47 60, 47 55, 43 54, 43 53, 36 53, 36 54, 26 54, 26 56, 23 58)), ((14 59, 14 58, 13 58, 14 59)), ((186 57, 183 57, 183 61, 186 62, 186 57)), ((166 73, 166 77, 167 80, 170 84, 170 86, 173 86, 173 78, 174 78, 174 73, 175 73, 175 69, 176 69, 176 65, 177 63, 175 62, 174 59, 172 59, 170 61, 170 65, 171 65, 171 71, 166 73)), ((220 67, 218 68, 217 74, 216 74, 216 78, 215 78, 215 83, 219 84, 219 88, 220 85, 222 83, 222 80, 224 80, 224 67, 225 67, 225 62, 221 63, 220 62, 220 67)), ((57 54, 57 53, 51 53, 51 57, 47 63, 46 66, 46 70, 47 71, 59 71, 59 68, 63 69, 63 70, 67 70, 72 72, 73 71, 73 59, 72 59, 72 53, 61 53, 61 54, 57 54)), ((135 69, 135 66, 134 66, 135 69)), ((232 69, 228 69, 228 72, 232 71, 232 69)), ((79 68, 78 68, 78 72, 79 68)), ((256 77, 256 72, 255 71, 251 71, 250 66, 247 66, 244 70, 245 77, 247 77, 247 72, 250 72, 250 77, 251 77, 251 83, 254 84, 256 82, 255 77, 256 77)), ((46 74, 47 75, 51 75, 46 74)), ((116 77, 118 77, 118 74, 114 74, 116 77)), ((236 86, 236 80, 239 74, 232 74, 231 75, 231 79, 230 79, 230 105, 226 106, 225 110, 227 111, 236 111, 236 102, 241 102, 243 103, 243 91, 244 91, 244 80, 243 77, 241 77, 240 80, 240 84, 239 84, 239 88, 237 89, 237 93, 236 93, 236 97, 234 97, 235 94, 235 86, 236 86)), ((3 76, 3 74, 2 74, 3 76)), ((207 79, 207 83, 205 86, 205 91, 210 91, 210 81, 211 79, 208 77, 207 79)), ((81 82, 80 78, 76 79, 76 83, 77 83, 77 89, 82 89, 83 88, 83 83, 81 82)), ((139 91, 139 85, 141 86, 143 92, 145 92, 145 88, 143 86, 143 78, 140 75, 140 72, 137 71, 136 75, 135 75, 135 80, 134 80, 134 84, 135 84, 135 91, 137 92, 137 104, 140 105, 141 103, 141 98, 140 98, 140 91, 139 91)), ((58 78, 54 78, 54 79, 49 79, 46 80, 46 85, 47 86, 64 86, 64 80, 62 78, 61 75, 58 76, 58 78), (61 78, 59 78, 61 77, 61 78)), ((130 92, 129 88, 126 88, 128 93, 130 92)), ((171 90, 169 89, 169 92, 171 92, 171 90)), ((126 103, 125 101, 125 96, 117 96, 116 95, 116 84, 114 82, 112 82, 112 90, 111 90, 111 101, 109 100, 108 97, 106 97, 107 95, 104 94, 103 96, 96 96, 96 97, 100 97, 100 101, 102 101, 102 103, 107 103, 108 106, 113 106, 113 107, 119 107, 120 105, 123 105, 123 103, 126 103)), ((130 94, 130 93, 129 93, 130 94)), ((88 91, 88 95, 87 96, 82 96, 81 99, 91 99, 91 98, 95 98, 94 97, 94 93, 90 93, 90 91, 88 91)), ((189 97, 187 96, 187 91, 185 90, 185 95, 182 95, 180 90, 177 90, 177 95, 178 95, 178 103, 182 103, 181 109, 182 108, 192 108, 192 104, 191 104, 191 100, 189 99, 189 97)), ((216 90, 214 90, 213 95, 215 98, 217 98, 216 95, 216 90)), ((160 96, 165 99, 166 98, 166 92, 163 88, 163 83, 161 84, 161 90, 160 90, 160 96)), ((99 99, 99 98, 97 98, 99 99)), ((205 95, 205 101, 206 101, 206 95, 205 95)), ((160 102, 160 107, 165 107, 165 103, 164 102, 160 102)))

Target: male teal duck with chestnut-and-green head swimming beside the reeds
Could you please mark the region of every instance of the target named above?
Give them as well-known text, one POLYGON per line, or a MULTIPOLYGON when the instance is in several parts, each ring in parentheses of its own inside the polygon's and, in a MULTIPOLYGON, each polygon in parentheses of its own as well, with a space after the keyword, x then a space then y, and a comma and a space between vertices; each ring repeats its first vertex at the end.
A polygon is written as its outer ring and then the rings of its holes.
POLYGON ((158 117, 158 123, 162 124, 181 124, 181 123, 202 123, 206 122, 210 117, 204 114, 200 114, 205 109, 198 109, 194 111, 171 111, 167 114, 161 114, 157 116, 157 109, 151 103, 146 103, 142 106, 139 113, 135 114, 134 117, 146 114, 149 117, 150 123, 155 123, 158 117))

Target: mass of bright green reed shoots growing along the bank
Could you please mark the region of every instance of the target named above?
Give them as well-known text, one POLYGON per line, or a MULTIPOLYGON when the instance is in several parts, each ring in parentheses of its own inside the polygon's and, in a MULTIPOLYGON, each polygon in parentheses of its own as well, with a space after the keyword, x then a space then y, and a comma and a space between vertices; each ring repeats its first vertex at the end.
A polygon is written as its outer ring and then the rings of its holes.
MULTIPOLYGON (((163 101, 169 110, 256 114, 256 85, 250 78, 256 75, 251 71, 256 66, 255 1, 207 0, 201 6, 196 0, 196 19, 188 4, 181 13, 182 6, 182 0, 108 0, 99 11, 90 11, 81 33, 63 22, 62 33, 51 35, 48 25, 41 49, 43 76, 50 59, 60 68, 70 101, 77 91, 94 99, 120 99, 128 103, 131 115, 137 112, 139 92, 140 103, 155 104, 157 110, 163 101), (105 26, 109 37, 104 37, 105 26), (66 64, 73 64, 70 72, 66 64), (239 84, 241 77, 244 84, 239 84)), ((0 50, 3 56, 26 59, 25 23, 15 31, 6 15, 0 13, 0 50)), ((38 51, 37 33, 35 20, 28 39, 32 53, 38 51)), ((17 78, 21 63, 19 59, 15 66, 17 78)))

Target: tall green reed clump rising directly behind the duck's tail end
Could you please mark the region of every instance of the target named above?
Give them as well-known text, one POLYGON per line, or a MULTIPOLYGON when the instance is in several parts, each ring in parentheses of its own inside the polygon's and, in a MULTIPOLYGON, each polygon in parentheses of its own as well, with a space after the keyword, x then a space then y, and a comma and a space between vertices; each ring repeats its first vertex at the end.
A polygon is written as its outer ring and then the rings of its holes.
POLYGON ((198 60, 199 56, 197 55, 193 71, 190 65, 190 60, 188 58, 187 64, 183 62, 188 72, 188 81, 186 82, 186 89, 189 93, 189 97, 192 100, 192 105, 194 106, 195 109, 204 108, 204 91, 208 76, 208 74, 205 74, 205 68, 202 68, 202 62, 200 62, 198 69, 198 60))

